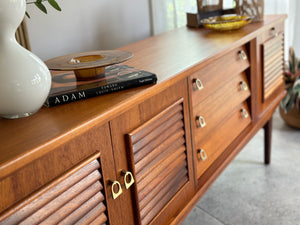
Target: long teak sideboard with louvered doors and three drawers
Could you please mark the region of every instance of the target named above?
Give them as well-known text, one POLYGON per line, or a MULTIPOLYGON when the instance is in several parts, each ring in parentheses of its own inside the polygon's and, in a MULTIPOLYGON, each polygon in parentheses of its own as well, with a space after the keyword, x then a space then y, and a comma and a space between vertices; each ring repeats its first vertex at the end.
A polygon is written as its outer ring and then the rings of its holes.
POLYGON ((157 84, 0 119, 0 224, 180 224, 261 128, 270 163, 285 18, 130 44, 157 84))

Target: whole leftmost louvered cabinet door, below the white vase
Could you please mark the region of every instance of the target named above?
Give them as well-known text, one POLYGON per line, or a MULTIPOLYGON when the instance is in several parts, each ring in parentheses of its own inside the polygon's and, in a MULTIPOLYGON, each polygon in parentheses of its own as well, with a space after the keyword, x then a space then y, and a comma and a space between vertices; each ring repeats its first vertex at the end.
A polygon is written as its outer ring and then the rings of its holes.
MULTIPOLYGON (((43 174, 48 182, 40 188, 28 183, 31 192, 26 191, 25 197, 0 214, 0 224, 104 224, 108 220, 118 224, 119 202, 111 197, 110 180, 116 180, 116 171, 108 124, 92 127, 33 161, 24 170, 22 176, 14 177, 13 182, 20 185, 17 190, 26 185, 26 181, 39 183, 43 174), (49 164, 51 180, 45 168, 49 164)), ((0 184, 6 184, 9 179, 10 176, 0 184)), ((16 191, 12 188, 11 192, 16 191)))

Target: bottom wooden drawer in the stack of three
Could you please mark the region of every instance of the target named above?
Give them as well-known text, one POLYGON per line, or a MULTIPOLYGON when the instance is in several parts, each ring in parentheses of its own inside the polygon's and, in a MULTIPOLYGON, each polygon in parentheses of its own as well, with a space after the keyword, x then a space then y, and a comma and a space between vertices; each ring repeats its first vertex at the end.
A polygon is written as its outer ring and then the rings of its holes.
POLYGON ((222 124, 218 124, 219 127, 210 132, 207 138, 196 140, 197 178, 200 178, 226 147, 250 124, 251 116, 246 102, 232 111, 233 114, 222 124))

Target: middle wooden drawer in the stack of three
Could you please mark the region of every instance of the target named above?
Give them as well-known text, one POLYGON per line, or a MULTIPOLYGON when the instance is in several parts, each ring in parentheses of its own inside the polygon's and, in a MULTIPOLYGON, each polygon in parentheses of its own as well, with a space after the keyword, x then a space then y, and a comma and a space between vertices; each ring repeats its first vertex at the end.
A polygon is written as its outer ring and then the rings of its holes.
POLYGON ((194 108, 195 140, 205 139, 250 96, 246 74, 240 73, 194 108))

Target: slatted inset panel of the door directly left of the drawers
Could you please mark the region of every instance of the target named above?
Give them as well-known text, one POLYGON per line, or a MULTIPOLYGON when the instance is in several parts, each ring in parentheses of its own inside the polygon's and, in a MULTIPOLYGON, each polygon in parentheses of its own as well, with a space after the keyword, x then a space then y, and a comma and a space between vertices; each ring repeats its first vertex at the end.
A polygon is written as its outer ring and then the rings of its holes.
POLYGON ((149 224, 188 181, 182 100, 131 132, 142 224, 149 224))

